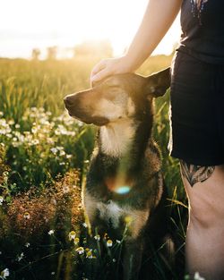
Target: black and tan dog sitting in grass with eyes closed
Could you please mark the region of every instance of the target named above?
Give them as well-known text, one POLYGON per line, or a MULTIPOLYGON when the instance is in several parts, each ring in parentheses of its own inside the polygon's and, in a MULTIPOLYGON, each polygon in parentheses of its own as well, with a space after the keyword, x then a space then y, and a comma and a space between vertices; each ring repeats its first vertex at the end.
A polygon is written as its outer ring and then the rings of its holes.
POLYGON ((169 72, 112 75, 64 99, 69 115, 99 127, 82 199, 91 233, 115 241, 125 233, 124 280, 151 278, 141 276, 142 256, 169 238, 168 194, 151 137, 153 99, 169 88, 169 72))

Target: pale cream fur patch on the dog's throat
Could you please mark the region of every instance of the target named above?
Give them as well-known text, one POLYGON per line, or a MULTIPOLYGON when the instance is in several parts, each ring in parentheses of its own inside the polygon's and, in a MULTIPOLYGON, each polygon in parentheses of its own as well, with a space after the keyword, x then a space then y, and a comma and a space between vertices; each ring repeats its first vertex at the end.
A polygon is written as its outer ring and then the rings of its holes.
POLYGON ((124 157, 133 146, 136 125, 132 120, 118 120, 99 129, 99 149, 109 157, 124 157))

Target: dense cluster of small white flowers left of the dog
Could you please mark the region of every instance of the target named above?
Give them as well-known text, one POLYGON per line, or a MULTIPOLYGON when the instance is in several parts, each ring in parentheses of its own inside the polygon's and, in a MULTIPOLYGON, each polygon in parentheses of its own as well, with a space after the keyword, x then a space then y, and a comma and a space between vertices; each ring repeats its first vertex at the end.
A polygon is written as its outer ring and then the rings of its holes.
POLYGON ((82 167, 91 148, 83 144, 86 130, 67 112, 53 116, 42 107, 27 108, 20 123, 0 114, 0 142, 4 143, 13 181, 20 189, 29 189, 51 182, 73 167, 82 167))

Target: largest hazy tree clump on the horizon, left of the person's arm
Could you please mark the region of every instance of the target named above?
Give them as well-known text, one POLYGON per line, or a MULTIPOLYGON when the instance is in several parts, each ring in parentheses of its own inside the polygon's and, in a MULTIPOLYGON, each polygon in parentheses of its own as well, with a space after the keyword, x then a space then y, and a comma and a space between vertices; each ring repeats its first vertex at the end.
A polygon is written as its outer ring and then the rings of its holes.
POLYGON ((93 41, 88 40, 82 44, 76 45, 73 48, 73 56, 98 56, 98 57, 111 57, 113 56, 113 47, 108 39, 93 41))

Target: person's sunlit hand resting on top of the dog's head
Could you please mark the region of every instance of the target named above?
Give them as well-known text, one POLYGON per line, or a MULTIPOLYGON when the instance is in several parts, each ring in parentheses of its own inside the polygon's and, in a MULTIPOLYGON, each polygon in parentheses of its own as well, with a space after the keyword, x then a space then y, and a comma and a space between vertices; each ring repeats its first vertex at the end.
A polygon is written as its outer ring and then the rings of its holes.
POLYGON ((100 81, 110 75, 125 72, 132 72, 125 56, 103 59, 93 67, 90 74, 90 81, 100 81))

